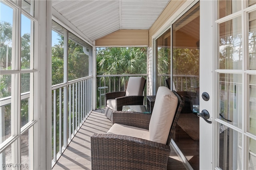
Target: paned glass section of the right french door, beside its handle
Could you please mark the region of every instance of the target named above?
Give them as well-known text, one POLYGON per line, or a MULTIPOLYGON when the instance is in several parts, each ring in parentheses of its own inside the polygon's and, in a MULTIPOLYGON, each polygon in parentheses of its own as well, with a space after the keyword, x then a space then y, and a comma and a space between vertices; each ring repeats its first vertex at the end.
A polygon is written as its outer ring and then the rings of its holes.
POLYGON ((256 169, 256 2, 217 5, 217 166, 256 169))

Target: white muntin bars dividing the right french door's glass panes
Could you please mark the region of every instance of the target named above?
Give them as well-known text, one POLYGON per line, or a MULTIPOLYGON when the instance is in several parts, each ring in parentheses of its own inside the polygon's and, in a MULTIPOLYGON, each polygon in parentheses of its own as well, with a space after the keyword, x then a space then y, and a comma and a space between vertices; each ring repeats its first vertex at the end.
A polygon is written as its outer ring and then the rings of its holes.
MULTIPOLYGON (((242 169, 248 169, 248 160, 249 160, 249 138, 252 138, 254 140, 256 140, 256 136, 251 134, 250 132, 248 132, 248 124, 249 124, 249 113, 248 113, 248 106, 249 106, 249 100, 248 100, 248 96, 249 96, 249 76, 250 75, 255 75, 256 72, 255 70, 250 70, 249 69, 249 58, 248 58, 248 32, 247 30, 249 30, 249 26, 247 24, 248 21, 248 13, 255 11, 255 7, 256 5, 252 5, 250 7, 248 7, 247 1, 240 1, 241 3, 241 10, 234 12, 233 14, 229 14, 227 16, 224 16, 223 18, 220 18, 218 20, 215 21, 216 24, 221 24, 223 22, 232 20, 234 18, 237 18, 239 16, 241 16, 242 18, 242 69, 240 70, 228 70, 228 69, 216 69, 215 72, 216 74, 220 74, 220 73, 224 73, 224 74, 241 74, 242 75, 242 127, 238 128, 236 126, 233 126, 231 124, 229 124, 228 122, 225 122, 223 120, 221 120, 220 118, 218 118, 218 115, 214 116, 215 117, 215 121, 219 124, 223 124, 225 126, 227 126, 228 128, 231 128, 232 130, 239 132, 242 135, 242 154, 241 154, 241 167, 242 169)), ((219 37, 219 34, 217 35, 219 37)), ((219 40, 218 40, 219 43, 219 40)), ((219 44, 217 44, 218 48, 219 48, 219 44)), ((218 49, 219 50, 219 49, 218 49)), ((218 89, 220 89, 218 87, 218 89)), ((217 128, 217 127, 216 127, 217 128)), ((214 148, 218 148, 218 138, 214 139, 214 144, 216 146, 214 146, 214 148)), ((217 149, 217 150, 218 150, 217 149)), ((219 153, 216 153, 219 154, 219 153)), ((219 164, 219 160, 216 160, 215 162, 216 164, 219 164)), ((218 165, 217 165, 218 166, 218 165)))

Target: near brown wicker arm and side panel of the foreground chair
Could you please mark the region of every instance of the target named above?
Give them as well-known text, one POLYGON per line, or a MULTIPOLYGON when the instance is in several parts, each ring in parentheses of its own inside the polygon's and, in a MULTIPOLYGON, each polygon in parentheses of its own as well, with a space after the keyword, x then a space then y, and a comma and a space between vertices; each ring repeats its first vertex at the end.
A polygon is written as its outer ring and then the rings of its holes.
POLYGON ((92 170, 166 170, 170 146, 116 134, 91 136, 92 170))

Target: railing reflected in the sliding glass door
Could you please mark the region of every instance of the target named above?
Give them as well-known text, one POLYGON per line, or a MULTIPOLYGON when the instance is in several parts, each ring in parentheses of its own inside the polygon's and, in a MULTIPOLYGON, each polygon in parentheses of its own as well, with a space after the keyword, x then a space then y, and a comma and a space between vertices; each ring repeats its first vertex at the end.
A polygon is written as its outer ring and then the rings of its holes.
MULTIPOLYGON (((170 74, 158 74, 158 86, 167 86, 166 79, 170 74)), ((172 75, 176 91, 196 91, 199 87, 199 76, 195 75, 172 75)))

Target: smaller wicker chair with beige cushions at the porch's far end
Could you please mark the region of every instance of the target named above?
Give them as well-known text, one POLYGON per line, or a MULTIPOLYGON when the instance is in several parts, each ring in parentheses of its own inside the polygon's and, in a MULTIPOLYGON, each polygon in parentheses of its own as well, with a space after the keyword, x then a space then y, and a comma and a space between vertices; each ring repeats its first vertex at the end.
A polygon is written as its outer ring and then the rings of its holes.
POLYGON ((106 93, 105 116, 112 121, 113 112, 122 110, 125 105, 142 105, 146 79, 143 77, 130 77, 126 91, 106 93))

